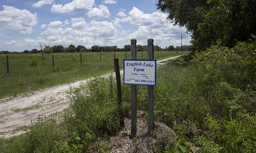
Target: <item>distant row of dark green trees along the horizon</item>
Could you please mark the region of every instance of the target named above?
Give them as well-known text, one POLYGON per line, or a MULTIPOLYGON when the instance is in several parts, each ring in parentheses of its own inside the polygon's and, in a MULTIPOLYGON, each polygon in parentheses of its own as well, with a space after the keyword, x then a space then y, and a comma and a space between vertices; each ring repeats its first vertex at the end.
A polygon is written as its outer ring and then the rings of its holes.
MULTIPOLYGON (((75 53, 75 52, 129 52, 131 50, 130 44, 123 46, 123 48, 118 48, 117 46, 92 46, 91 48, 86 48, 84 46, 75 46, 70 44, 68 47, 63 47, 61 45, 57 46, 42 46, 40 44, 41 49, 32 49, 24 50, 23 52, 10 52, 10 51, 0 51, 0 54, 18 54, 18 53, 75 53)), ((161 48, 160 46, 154 46, 154 51, 191 51, 192 46, 168 46, 166 48, 161 48)), ((147 46, 137 45, 138 52, 146 52, 147 46)))

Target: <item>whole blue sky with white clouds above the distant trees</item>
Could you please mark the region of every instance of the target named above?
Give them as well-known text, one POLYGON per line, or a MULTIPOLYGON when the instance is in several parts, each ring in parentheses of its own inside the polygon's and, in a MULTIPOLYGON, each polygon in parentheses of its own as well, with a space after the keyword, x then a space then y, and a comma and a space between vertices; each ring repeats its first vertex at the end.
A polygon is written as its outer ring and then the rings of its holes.
POLYGON ((69 44, 90 48, 130 44, 190 45, 184 28, 173 26, 155 0, 0 0, 0 51, 69 44))

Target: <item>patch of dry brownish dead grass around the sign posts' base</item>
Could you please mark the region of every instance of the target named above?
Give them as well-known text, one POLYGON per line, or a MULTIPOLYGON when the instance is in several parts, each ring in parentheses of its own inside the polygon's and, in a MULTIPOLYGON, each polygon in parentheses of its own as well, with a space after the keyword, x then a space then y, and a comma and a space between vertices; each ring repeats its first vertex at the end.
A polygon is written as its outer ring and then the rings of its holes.
POLYGON ((157 143, 170 146, 176 140, 174 131, 160 122, 155 122, 155 129, 150 136, 147 132, 147 118, 144 111, 137 113, 137 137, 130 137, 131 120, 125 119, 125 127, 117 136, 110 138, 112 152, 158 152, 157 143))

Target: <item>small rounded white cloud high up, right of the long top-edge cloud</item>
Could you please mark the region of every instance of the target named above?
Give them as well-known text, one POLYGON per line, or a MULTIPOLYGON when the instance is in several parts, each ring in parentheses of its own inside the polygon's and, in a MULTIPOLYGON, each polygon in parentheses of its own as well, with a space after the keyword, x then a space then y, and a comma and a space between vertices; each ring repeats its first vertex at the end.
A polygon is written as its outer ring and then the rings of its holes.
POLYGON ((90 10, 87 14, 89 18, 108 18, 110 13, 108 7, 105 5, 100 5, 97 7, 94 7, 92 10, 90 10))

